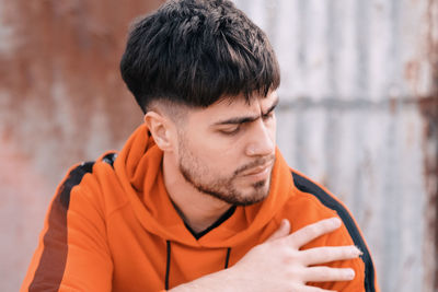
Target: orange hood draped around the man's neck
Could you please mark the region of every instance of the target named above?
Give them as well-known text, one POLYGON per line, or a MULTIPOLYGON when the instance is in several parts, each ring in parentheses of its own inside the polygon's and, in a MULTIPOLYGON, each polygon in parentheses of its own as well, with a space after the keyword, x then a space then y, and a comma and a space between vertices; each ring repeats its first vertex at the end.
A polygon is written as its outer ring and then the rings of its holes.
POLYGON ((289 167, 277 149, 268 197, 252 206, 238 207, 227 221, 196 240, 166 192, 162 159, 163 152, 146 125, 141 125, 118 154, 114 168, 142 226, 165 241, 188 246, 221 248, 253 237, 269 223, 295 188, 289 167))

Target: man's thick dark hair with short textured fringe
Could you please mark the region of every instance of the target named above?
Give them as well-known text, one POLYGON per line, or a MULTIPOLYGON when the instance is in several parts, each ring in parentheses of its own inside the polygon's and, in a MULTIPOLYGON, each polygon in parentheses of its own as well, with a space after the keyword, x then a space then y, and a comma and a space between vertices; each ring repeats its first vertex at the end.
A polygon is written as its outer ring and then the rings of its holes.
POLYGON ((264 34, 228 0, 173 0, 136 23, 120 71, 146 113, 151 101, 207 107, 227 96, 266 96, 280 83, 264 34))

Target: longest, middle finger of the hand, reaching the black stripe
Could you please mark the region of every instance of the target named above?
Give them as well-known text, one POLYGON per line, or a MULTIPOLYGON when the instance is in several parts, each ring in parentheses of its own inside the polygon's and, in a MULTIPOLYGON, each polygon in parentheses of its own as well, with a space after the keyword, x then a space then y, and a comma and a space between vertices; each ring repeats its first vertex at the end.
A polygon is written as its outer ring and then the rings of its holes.
POLYGON ((349 246, 324 246, 306 249, 301 252, 306 266, 320 265, 335 260, 357 258, 362 253, 354 245, 349 246))

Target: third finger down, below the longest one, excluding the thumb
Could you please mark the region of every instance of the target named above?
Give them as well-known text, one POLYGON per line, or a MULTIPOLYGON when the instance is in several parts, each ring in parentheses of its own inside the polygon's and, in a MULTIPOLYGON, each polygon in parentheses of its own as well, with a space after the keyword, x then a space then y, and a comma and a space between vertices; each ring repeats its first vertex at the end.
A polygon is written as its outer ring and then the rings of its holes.
POLYGON ((350 281, 355 270, 350 268, 311 267, 303 275, 306 282, 350 281))

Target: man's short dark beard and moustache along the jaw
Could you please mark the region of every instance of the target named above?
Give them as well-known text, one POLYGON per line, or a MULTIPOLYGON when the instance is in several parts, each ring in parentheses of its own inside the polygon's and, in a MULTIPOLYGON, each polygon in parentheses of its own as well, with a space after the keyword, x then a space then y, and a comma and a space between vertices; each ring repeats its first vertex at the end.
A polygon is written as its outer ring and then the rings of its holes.
POLYGON ((185 139, 180 140, 178 167, 185 180, 199 192, 234 206, 257 203, 268 196, 270 174, 268 178, 252 183, 246 187, 239 187, 238 179, 241 173, 256 166, 265 165, 274 160, 274 154, 266 157, 257 157, 253 162, 237 168, 231 175, 220 177, 214 175, 212 170, 208 165, 199 162, 194 153, 189 151, 185 139))

